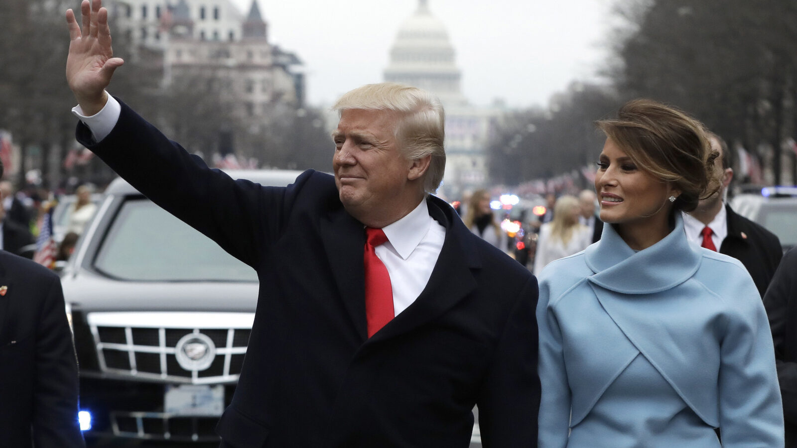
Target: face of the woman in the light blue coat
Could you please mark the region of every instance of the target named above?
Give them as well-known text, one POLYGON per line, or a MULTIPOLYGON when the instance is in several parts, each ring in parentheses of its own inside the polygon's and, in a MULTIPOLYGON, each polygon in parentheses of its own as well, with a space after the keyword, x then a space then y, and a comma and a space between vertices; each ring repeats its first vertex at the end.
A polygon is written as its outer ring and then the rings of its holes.
POLYGON ((677 196, 669 183, 638 167, 611 139, 601 152, 595 191, 603 222, 620 225, 666 226, 671 203, 677 196))

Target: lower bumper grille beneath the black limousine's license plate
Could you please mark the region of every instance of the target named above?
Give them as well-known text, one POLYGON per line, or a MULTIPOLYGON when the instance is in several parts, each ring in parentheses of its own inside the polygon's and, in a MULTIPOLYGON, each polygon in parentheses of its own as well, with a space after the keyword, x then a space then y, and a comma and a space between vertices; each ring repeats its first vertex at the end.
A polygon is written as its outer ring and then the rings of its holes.
POLYGON ((170 440, 174 442, 218 442, 218 417, 171 417, 161 412, 112 412, 116 437, 170 440))

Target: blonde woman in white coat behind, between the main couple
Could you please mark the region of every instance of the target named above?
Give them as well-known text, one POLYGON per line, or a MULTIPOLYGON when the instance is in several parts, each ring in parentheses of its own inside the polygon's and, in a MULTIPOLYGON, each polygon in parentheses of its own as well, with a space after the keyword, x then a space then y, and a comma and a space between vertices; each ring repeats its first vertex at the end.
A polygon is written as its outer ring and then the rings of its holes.
POLYGON ((579 222, 581 204, 575 196, 556 199, 552 222, 540 227, 537 251, 534 256, 534 273, 540 273, 551 261, 579 253, 590 245, 589 227, 579 222))

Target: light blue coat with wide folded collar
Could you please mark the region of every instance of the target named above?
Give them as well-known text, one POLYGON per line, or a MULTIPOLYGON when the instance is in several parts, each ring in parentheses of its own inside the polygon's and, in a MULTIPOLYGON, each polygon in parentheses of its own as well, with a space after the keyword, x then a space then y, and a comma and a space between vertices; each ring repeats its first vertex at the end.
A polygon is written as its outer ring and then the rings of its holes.
POLYGON ((783 446, 764 306, 739 261, 613 226, 539 275, 540 448, 783 446), (569 434, 569 436, 568 436, 569 434))

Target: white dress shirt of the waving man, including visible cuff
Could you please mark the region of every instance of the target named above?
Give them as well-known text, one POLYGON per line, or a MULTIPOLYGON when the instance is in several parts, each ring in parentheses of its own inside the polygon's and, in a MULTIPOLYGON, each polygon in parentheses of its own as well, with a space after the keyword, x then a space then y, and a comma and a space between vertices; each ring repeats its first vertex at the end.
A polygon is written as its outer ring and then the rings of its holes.
MULTIPOLYGON (((116 126, 121 110, 119 101, 108 95, 108 103, 95 115, 84 116, 79 105, 72 113, 88 126, 94 140, 99 142, 116 126)), ((382 230, 387 242, 377 246, 375 251, 391 276, 393 310, 398 316, 426 288, 446 239, 446 227, 430 216, 424 200, 404 218, 382 230)))

